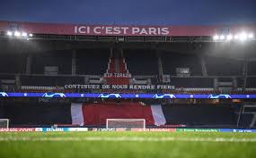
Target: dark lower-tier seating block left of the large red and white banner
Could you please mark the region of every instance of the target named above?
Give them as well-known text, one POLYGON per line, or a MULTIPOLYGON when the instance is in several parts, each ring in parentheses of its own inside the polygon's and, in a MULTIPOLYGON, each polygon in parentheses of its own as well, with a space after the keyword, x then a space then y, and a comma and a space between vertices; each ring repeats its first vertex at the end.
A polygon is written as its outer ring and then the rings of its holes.
POLYGON ((0 106, 1 118, 9 118, 11 124, 25 126, 53 125, 71 122, 69 104, 8 103, 0 106), (69 111, 68 111, 69 110, 69 111))

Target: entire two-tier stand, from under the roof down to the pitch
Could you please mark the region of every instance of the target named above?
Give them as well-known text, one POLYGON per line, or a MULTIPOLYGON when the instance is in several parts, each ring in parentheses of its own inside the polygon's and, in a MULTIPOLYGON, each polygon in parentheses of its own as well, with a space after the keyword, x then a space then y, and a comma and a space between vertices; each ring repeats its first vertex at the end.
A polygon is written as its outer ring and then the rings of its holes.
MULTIPOLYGON (((40 36, 44 35, 34 35, 40 36)), ((145 119, 150 128, 255 128, 252 103, 244 104, 247 99, 255 102, 249 98, 256 94, 253 57, 246 64, 244 56, 228 55, 231 50, 214 54, 208 51, 213 41, 191 41, 196 37, 178 37, 182 42, 172 36, 65 37, 69 38, 59 37, 61 42, 41 38, 43 45, 34 40, 34 47, 43 49, 9 46, 9 52, 1 52, 0 119, 9 119, 11 127, 105 128, 107 119, 145 119), (121 88, 125 86, 138 88, 121 88), (27 96, 29 92, 40 93, 27 96), (232 94, 246 96, 231 98, 232 94)))

